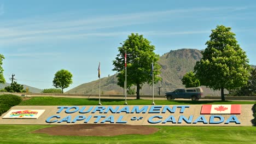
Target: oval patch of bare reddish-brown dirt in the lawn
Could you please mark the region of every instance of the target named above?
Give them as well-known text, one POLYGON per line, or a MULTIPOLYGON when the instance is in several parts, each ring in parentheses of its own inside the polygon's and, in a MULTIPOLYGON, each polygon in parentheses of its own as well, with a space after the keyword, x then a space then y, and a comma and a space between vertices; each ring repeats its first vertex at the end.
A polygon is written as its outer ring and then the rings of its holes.
POLYGON ((158 128, 141 125, 125 124, 73 124, 60 125, 33 131, 32 133, 44 133, 49 135, 69 136, 115 136, 126 134, 148 135, 158 131, 158 128))

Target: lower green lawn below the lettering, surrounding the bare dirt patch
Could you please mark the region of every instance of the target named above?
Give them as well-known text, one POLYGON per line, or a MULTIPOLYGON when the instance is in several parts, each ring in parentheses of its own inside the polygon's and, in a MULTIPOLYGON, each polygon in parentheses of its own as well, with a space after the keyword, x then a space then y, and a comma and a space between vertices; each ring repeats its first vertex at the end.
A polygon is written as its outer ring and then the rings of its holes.
POLYGON ((51 136, 31 131, 49 125, 0 125, 0 143, 255 143, 255 127, 159 126, 151 135, 51 136))

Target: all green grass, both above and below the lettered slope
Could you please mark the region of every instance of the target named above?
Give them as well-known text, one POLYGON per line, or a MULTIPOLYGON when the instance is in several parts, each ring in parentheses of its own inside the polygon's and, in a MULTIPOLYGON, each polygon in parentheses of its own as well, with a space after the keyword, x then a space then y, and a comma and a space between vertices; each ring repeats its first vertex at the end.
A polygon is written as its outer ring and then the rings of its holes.
MULTIPOLYGON (((102 105, 123 105, 123 99, 102 99, 102 105)), ((127 100, 129 105, 150 105, 152 100, 127 100)), ((155 100, 157 105, 255 104, 255 101, 155 100)), ((98 99, 33 97, 20 105, 97 105, 98 99)), ((0 125, 0 143, 256 143, 256 127, 154 126, 151 135, 50 136, 31 131, 53 125, 0 125)))

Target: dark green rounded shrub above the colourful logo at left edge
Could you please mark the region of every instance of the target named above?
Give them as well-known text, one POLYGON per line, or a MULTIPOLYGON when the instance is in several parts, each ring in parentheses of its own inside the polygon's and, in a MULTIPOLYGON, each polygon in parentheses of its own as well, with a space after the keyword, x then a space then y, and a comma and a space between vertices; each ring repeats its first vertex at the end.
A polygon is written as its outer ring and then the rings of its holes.
POLYGON ((12 94, 0 95, 0 115, 7 112, 11 106, 20 104, 21 98, 12 94))

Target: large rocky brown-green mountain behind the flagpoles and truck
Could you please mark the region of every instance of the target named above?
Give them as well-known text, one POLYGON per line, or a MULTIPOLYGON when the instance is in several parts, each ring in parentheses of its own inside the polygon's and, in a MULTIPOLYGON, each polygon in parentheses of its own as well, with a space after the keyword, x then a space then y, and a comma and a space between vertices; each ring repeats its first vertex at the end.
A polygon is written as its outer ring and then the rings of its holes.
MULTIPOLYGON (((196 49, 180 49, 171 50, 162 55, 158 61, 161 65, 162 81, 154 85, 154 94, 157 95, 160 88, 161 94, 171 92, 177 88, 184 88, 182 85, 182 77, 188 71, 193 71, 194 65, 202 58, 201 51, 196 49)), ((117 85, 117 74, 104 77, 101 79, 102 94, 123 94, 124 89, 117 85)), ((133 87, 135 88, 135 87, 133 87)), ((220 95, 219 91, 213 91, 210 88, 202 86, 206 95, 220 95)), ((77 94, 98 94, 98 80, 89 83, 84 83, 66 93, 77 94)), ((142 95, 152 95, 152 86, 144 84, 141 89, 142 95)))

